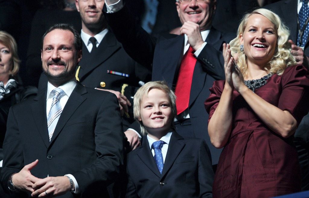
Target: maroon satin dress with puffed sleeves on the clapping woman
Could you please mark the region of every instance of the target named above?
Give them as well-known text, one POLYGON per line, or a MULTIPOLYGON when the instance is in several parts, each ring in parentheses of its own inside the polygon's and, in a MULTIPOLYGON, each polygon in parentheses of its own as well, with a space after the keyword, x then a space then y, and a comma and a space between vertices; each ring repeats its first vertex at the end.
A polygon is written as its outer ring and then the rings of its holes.
MULTIPOLYGON (((209 120, 218 106, 225 81, 216 81, 205 101, 209 120)), ((300 123, 309 108, 309 79, 302 65, 274 74, 255 93, 300 123)), ((300 191, 300 168, 293 136, 271 131, 237 92, 233 93, 233 124, 214 178, 214 198, 273 197, 300 191)))

